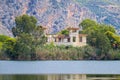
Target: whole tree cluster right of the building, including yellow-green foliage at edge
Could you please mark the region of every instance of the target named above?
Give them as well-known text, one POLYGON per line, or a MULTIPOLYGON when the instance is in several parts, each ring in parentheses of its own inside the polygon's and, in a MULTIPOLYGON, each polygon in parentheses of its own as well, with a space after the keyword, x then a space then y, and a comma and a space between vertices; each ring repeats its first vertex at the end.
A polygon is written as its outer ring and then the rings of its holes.
MULTIPOLYGON (((116 50, 120 49, 120 36, 116 34, 113 26, 99 24, 90 19, 83 20, 80 26, 83 29, 82 33, 88 35, 88 44, 95 47, 99 56, 107 58, 110 50, 116 53, 116 50)), ((119 52, 115 55, 118 54, 119 52)))

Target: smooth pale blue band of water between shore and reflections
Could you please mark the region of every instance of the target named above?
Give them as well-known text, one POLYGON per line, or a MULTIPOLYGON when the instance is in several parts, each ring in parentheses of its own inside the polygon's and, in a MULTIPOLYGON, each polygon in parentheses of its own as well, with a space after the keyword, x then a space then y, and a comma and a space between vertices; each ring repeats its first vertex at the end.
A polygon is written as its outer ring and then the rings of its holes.
POLYGON ((120 61, 0 61, 0 74, 120 74, 120 61))

